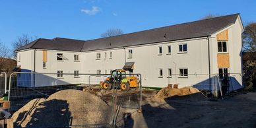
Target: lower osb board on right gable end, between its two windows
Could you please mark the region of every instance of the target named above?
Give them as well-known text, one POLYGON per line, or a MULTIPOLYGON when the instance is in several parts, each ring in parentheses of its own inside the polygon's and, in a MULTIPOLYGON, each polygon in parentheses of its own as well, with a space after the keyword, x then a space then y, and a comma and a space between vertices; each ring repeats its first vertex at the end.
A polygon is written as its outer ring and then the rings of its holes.
POLYGON ((218 68, 230 67, 230 54, 218 53, 218 68))

